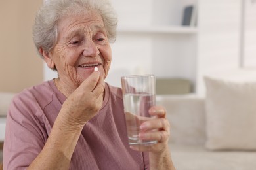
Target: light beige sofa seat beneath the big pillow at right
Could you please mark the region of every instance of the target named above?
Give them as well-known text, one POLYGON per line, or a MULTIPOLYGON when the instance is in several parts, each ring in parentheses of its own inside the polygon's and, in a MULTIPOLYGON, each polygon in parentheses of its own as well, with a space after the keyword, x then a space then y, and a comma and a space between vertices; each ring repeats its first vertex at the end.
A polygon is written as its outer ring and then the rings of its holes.
POLYGON ((221 150, 213 152, 203 146, 169 143, 177 170, 251 170, 256 167, 255 152, 221 150))

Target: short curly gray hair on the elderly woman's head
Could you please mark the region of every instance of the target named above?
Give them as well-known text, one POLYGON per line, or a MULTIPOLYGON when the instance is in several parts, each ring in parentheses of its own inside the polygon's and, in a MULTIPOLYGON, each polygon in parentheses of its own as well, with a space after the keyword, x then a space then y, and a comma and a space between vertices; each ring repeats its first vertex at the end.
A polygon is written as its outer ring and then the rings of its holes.
MULTIPOLYGON (((58 21, 64 16, 96 11, 102 17, 108 41, 116 41, 117 15, 108 0, 47 0, 35 16, 33 41, 37 50, 50 52, 58 37, 58 21)), ((42 57, 42 56, 41 56, 42 57)))

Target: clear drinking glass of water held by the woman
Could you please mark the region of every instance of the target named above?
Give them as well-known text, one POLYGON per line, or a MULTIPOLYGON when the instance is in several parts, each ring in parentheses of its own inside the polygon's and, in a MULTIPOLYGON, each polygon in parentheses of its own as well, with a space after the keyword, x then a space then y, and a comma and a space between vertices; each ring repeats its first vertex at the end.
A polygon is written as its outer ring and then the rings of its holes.
POLYGON ((121 86, 129 144, 156 144, 157 141, 139 139, 140 125, 153 118, 148 110, 156 104, 156 76, 123 76, 121 86))

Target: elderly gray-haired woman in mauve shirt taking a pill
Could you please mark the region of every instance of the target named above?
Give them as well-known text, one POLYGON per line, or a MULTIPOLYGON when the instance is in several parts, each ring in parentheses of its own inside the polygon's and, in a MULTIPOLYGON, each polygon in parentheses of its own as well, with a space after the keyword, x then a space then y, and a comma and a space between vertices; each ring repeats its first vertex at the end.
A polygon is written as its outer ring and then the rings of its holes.
POLYGON ((58 78, 14 97, 7 116, 4 169, 174 169, 163 107, 130 147, 121 90, 104 82, 117 18, 108 1, 49 0, 35 18, 33 39, 58 78), (98 71, 94 71, 95 67, 98 71), (152 129, 157 132, 150 133, 152 129))

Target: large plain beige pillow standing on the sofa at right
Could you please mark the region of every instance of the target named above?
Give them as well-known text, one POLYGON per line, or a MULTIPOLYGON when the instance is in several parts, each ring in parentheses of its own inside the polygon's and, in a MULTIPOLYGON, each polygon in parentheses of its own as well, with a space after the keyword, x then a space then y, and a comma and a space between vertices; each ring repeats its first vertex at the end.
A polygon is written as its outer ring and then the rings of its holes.
POLYGON ((256 149, 256 81, 230 82, 205 77, 205 147, 256 149))

